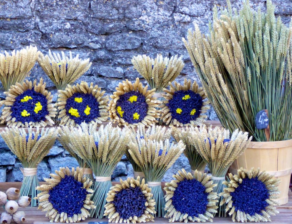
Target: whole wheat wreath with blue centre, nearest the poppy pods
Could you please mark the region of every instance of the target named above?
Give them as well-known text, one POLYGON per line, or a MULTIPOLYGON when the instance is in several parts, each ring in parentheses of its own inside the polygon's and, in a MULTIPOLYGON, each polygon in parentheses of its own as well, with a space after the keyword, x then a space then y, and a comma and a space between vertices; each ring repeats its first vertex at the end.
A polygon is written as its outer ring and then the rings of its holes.
POLYGON ((55 173, 45 179, 46 184, 36 188, 41 191, 36 197, 38 209, 46 211, 46 217, 55 223, 76 223, 88 218, 88 210, 95 206, 91 201, 92 182, 83 175, 83 169, 62 167, 55 173))

